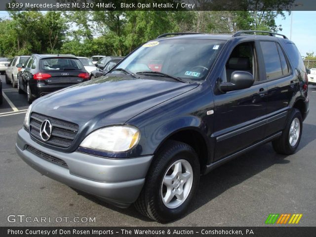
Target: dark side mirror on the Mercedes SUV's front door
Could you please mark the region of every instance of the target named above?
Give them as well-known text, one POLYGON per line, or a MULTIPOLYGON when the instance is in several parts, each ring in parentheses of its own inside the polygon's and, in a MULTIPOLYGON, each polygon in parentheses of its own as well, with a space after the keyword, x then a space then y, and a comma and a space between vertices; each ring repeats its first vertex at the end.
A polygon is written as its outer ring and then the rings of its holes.
POLYGON ((240 90, 249 88, 253 85, 253 82, 254 78, 251 73, 235 71, 232 73, 231 81, 220 83, 218 88, 221 92, 240 90))

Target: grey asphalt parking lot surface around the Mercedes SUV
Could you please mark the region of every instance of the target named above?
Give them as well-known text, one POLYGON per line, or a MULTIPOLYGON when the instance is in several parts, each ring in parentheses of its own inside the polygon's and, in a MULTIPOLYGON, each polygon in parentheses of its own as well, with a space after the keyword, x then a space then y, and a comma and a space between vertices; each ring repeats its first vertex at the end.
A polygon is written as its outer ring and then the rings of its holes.
MULTIPOLYGON (((0 226, 160 226, 131 206, 119 209, 78 194, 22 161, 16 133, 28 108, 25 94, 6 85, 0 106, 0 226), (54 222, 20 223, 7 216, 49 217, 54 222), (95 217, 93 223, 56 222, 56 217, 95 217)), ((310 114, 298 151, 277 155, 261 146, 201 177, 188 214, 167 226, 265 226, 270 213, 302 213, 299 226, 316 225, 316 86, 309 86, 310 114)))

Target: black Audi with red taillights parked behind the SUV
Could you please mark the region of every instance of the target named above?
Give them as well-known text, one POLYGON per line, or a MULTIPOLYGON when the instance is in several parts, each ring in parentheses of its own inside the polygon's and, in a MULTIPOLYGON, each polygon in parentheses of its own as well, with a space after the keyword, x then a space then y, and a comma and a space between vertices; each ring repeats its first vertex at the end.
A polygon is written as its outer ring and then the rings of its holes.
POLYGON ((18 89, 27 93, 30 104, 40 96, 89 79, 79 59, 70 54, 33 54, 23 67, 18 89))

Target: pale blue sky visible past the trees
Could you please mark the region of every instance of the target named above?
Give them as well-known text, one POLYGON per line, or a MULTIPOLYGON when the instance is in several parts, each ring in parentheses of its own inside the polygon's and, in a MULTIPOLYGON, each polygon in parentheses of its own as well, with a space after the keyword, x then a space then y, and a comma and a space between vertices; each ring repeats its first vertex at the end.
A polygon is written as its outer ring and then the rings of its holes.
MULTIPOLYGON (((304 1, 304 0, 302 0, 304 1)), ((316 54, 316 11, 298 11, 305 6, 295 7, 295 11, 292 11, 292 16, 285 12, 285 19, 278 16, 276 18, 276 25, 281 25, 282 31, 278 32, 287 36, 290 39, 291 18, 292 21, 292 41, 298 47, 302 56, 306 56, 306 53, 315 52, 316 54)), ((0 18, 8 18, 6 11, 0 11, 0 18)))

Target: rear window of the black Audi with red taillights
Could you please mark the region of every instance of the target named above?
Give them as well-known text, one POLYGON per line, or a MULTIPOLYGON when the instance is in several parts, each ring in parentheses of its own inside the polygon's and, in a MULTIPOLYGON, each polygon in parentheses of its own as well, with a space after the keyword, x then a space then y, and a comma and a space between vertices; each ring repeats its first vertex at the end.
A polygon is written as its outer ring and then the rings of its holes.
POLYGON ((44 58, 40 60, 40 68, 44 70, 79 70, 82 64, 74 58, 44 58))

